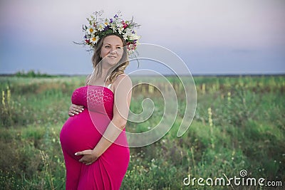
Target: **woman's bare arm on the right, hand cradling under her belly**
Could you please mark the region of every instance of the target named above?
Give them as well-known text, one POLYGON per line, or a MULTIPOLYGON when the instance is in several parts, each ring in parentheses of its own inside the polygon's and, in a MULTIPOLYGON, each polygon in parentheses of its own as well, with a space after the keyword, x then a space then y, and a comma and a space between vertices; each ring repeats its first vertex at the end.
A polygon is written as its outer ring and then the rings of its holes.
POLYGON ((132 81, 128 75, 119 75, 113 86, 115 88, 113 119, 105 130, 103 137, 101 137, 94 149, 76 152, 77 156, 83 155, 79 162, 83 162, 86 165, 95 162, 115 142, 115 139, 118 138, 127 123, 132 96, 132 81))

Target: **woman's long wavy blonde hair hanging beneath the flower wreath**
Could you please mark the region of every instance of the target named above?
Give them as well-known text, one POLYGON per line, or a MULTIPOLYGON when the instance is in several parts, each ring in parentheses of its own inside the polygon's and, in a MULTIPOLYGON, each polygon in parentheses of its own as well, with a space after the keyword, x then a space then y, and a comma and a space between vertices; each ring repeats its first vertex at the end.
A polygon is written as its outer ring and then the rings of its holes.
MULTIPOLYGON (((87 81, 87 85, 89 85, 90 80, 93 78, 97 78, 101 74, 102 70, 102 64, 100 61, 102 58, 100 57, 100 51, 103 46, 103 41, 107 36, 118 36, 122 41, 123 41, 123 47, 127 46, 127 43, 125 42, 124 38, 122 36, 119 36, 117 33, 110 33, 103 38, 100 38, 98 43, 96 43, 96 46, 94 48, 94 54, 92 57, 92 64, 93 64, 93 72, 90 75, 90 78, 87 81), (100 64, 99 64, 100 63, 100 64)), ((123 74, 125 71, 125 68, 129 65, 129 60, 128 60, 128 53, 126 48, 123 48, 123 56, 120 59, 120 61, 113 66, 113 68, 110 68, 108 71, 106 78, 105 78, 105 83, 113 83, 114 80, 118 77, 118 75, 123 74)))

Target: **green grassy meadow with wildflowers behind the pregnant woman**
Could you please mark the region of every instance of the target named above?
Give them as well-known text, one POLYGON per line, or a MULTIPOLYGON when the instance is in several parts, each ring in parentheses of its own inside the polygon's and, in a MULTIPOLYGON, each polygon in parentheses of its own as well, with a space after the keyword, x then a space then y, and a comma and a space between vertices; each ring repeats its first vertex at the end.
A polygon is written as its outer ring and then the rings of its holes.
MULTIPOLYGON (((177 79, 169 78, 172 84, 177 79)), ((165 137, 130 149, 121 189, 271 189, 269 186, 215 186, 185 178, 264 178, 285 189, 285 75, 197 76, 197 110, 190 129, 177 137, 185 100, 165 137), (240 171, 246 170, 242 178, 240 171), (186 179, 186 182, 189 181, 186 179), (280 185, 280 184, 279 184, 280 185)), ((0 189, 64 189, 65 166, 59 132, 68 118, 71 93, 85 77, 1 77, 0 189)), ((160 83, 159 81, 157 83, 160 83)), ((179 86, 179 85, 178 85, 179 86)), ((181 88, 176 88, 177 94, 181 88)), ((130 109, 141 112, 147 95, 155 112, 146 122, 128 122, 141 132, 161 120, 160 95, 141 85, 130 109)), ((210 182, 208 180, 208 182, 210 182)), ((226 181, 227 183, 227 181, 226 181)))

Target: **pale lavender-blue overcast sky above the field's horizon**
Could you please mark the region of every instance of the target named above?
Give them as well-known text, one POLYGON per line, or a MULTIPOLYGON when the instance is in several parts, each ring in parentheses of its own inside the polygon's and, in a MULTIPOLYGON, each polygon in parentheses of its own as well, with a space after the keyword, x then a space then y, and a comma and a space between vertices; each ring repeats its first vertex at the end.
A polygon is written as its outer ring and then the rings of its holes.
POLYGON ((90 73, 91 54, 73 41, 101 9, 133 16, 140 43, 173 51, 193 74, 285 73, 284 0, 1 0, 0 73, 90 73))

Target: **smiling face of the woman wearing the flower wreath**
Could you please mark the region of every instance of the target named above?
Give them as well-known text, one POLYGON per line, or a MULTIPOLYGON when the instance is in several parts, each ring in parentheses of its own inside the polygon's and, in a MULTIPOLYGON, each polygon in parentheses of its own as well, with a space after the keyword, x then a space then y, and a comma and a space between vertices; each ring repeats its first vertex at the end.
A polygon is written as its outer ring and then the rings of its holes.
POLYGON ((123 41, 118 36, 107 36, 104 38, 103 46, 100 51, 103 62, 115 65, 123 56, 123 41))

